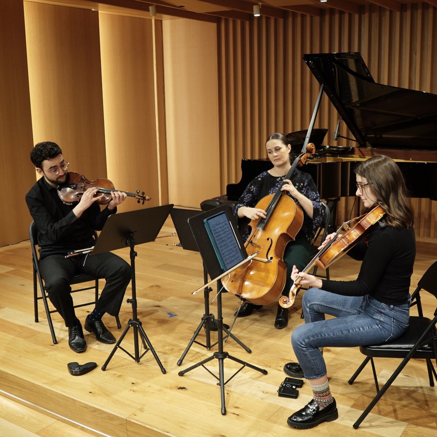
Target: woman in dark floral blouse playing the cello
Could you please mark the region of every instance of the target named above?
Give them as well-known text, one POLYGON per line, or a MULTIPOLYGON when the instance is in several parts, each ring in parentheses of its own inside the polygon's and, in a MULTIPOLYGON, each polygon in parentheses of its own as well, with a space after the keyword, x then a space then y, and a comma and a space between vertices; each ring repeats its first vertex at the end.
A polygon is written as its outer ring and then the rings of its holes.
MULTIPOLYGON (((248 218, 255 220, 266 217, 266 212, 260 208, 255 208, 258 201, 277 191, 278 187, 285 182, 281 190, 286 191, 288 196, 294 199, 295 203, 302 208, 304 221, 301 231, 297 234, 295 241, 288 243, 284 250, 284 262, 287 264, 287 281, 285 283, 283 295, 288 296, 291 287, 291 271, 293 265, 299 268, 305 267, 310 250, 309 239, 314 236, 314 232, 319 227, 323 219, 323 206, 317 188, 312 177, 296 169, 291 180, 284 180, 284 175, 291 168, 290 150, 291 146, 285 135, 274 133, 266 141, 267 156, 273 164, 271 170, 259 174, 253 179, 243 192, 241 198, 234 206, 234 214, 238 218, 248 218)), ((250 229, 242 229, 243 240, 250 234, 250 229)), ((239 311, 238 317, 249 316, 253 310, 260 309, 262 305, 253 305, 246 302, 239 311)), ((288 309, 278 305, 277 316, 274 326, 277 329, 285 328, 288 324, 288 309)))

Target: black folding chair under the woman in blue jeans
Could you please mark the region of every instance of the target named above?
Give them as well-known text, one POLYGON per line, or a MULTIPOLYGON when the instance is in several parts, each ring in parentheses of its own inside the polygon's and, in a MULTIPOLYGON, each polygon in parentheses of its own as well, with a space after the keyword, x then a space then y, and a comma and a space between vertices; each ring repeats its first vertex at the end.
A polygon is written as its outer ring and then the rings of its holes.
POLYGON ((373 409, 379 399, 382 398, 382 395, 384 395, 388 387, 392 385, 393 381, 411 358, 421 358, 426 360, 430 387, 434 387, 434 378, 437 381, 436 370, 431 361, 435 360, 437 364, 437 308, 434 312, 434 319, 431 320, 423 316, 422 304, 420 302, 420 290, 428 291, 435 298, 437 298, 437 261, 422 276, 417 284, 416 290, 412 295, 413 302, 411 306, 417 305, 417 312, 419 313, 419 316, 410 316, 406 331, 399 338, 389 343, 360 347, 360 352, 366 355, 366 358, 348 382, 349 384, 353 384, 355 378, 357 378, 366 364, 370 361, 372 365, 373 377, 375 379, 377 395, 364 410, 364 413, 361 414, 360 418, 354 423, 355 429, 360 426, 361 422, 371 412, 371 409, 373 409), (388 378, 388 381, 381 388, 381 390, 378 386, 375 363, 373 361, 373 358, 375 357, 403 358, 402 363, 399 364, 392 376, 388 378))

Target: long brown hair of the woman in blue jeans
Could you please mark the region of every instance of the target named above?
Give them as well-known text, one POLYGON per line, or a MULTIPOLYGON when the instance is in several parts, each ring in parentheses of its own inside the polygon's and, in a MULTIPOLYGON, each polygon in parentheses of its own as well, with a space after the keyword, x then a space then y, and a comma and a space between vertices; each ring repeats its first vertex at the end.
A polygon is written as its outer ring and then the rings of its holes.
POLYGON ((378 203, 384 208, 385 221, 395 228, 412 228, 414 210, 404 177, 396 163, 385 155, 376 155, 358 164, 355 174, 367 179, 378 203))

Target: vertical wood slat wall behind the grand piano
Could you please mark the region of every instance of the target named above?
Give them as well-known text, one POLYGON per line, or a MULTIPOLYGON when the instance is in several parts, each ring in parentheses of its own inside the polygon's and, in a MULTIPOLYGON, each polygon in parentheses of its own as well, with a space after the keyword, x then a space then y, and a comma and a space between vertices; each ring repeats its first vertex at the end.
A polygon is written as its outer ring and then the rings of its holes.
MULTIPOLYGON (((272 132, 308 128, 319 84, 305 53, 361 52, 375 82, 437 94, 437 9, 427 3, 394 12, 363 6, 360 15, 333 9, 320 17, 290 12, 285 20, 218 24, 221 189, 241 177, 242 158, 264 158, 272 132)), ((340 115, 323 96, 316 128, 324 144, 354 146, 333 132, 340 115)), ((351 136, 344 123, 340 135, 351 136)), ((435 147, 435 145, 434 145, 435 147)), ((340 202, 337 221, 349 218, 354 198, 340 202)), ((437 202, 413 199, 416 236, 437 238, 437 202)))

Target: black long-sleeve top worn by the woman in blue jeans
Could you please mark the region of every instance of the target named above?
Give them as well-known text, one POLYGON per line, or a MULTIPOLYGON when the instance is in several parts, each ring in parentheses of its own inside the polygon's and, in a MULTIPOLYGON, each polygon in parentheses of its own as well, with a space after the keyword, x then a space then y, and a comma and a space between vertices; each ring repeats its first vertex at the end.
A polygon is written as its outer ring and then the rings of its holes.
POLYGON ((322 289, 343 296, 371 295, 387 305, 407 302, 416 257, 413 229, 397 229, 377 223, 367 239, 347 253, 362 260, 355 281, 322 280, 322 289))

